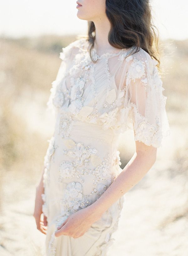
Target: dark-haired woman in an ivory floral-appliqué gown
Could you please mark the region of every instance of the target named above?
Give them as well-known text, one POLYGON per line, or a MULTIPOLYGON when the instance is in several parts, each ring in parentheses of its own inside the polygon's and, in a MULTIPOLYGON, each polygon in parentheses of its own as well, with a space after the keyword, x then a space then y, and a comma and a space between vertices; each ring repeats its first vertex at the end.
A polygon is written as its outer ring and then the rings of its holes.
POLYGON ((80 0, 77 9, 88 36, 62 49, 47 103, 55 129, 34 210, 46 255, 106 255, 123 195, 169 134, 149 1, 80 0), (118 139, 128 128, 136 150, 122 170, 118 139))

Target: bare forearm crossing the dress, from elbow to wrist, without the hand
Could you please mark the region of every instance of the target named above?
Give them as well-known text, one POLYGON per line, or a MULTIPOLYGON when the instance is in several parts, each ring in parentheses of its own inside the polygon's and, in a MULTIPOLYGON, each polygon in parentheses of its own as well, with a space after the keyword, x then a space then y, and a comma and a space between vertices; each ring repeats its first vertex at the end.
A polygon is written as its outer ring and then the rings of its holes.
POLYGON ((120 197, 133 188, 151 169, 155 162, 153 156, 134 153, 123 171, 112 182, 107 190, 89 206, 91 214, 99 217, 120 197))

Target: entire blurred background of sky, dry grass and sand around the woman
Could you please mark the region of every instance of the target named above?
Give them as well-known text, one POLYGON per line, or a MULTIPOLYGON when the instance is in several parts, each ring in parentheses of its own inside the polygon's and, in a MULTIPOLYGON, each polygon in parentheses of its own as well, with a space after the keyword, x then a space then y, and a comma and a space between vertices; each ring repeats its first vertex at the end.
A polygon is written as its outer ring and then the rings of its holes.
MULTIPOLYGON (((159 29, 161 68, 171 134, 146 176, 124 195, 108 256, 187 256, 188 6, 150 1, 159 29)), ((0 9, 0 255, 40 256, 45 235, 33 217, 53 118, 46 111, 62 47, 87 34, 75 1, 3 1, 0 9)), ((121 168, 134 152, 122 134, 121 168)))

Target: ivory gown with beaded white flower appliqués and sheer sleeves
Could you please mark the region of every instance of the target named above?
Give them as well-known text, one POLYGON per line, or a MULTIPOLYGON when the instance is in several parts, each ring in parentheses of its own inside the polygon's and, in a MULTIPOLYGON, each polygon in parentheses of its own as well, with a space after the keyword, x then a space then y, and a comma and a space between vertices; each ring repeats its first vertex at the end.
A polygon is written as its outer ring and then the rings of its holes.
POLYGON ((46 255, 106 255, 113 242, 123 196, 81 237, 55 237, 57 226, 95 202, 122 171, 119 135, 134 129, 135 140, 161 146, 169 134, 166 97, 156 61, 133 47, 91 62, 84 38, 62 48, 48 109, 55 128, 44 157, 43 213, 47 216, 46 255), (127 57, 128 56, 128 57, 127 57))

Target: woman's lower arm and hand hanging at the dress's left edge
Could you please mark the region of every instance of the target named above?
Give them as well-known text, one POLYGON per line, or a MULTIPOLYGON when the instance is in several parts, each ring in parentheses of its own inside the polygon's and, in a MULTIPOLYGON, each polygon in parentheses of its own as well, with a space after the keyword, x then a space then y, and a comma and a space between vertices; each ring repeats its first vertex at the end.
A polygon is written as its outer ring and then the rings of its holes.
POLYGON ((39 186, 36 189, 36 198, 35 198, 35 207, 34 207, 34 218, 36 221, 36 225, 37 225, 37 229, 42 232, 43 234, 46 235, 47 233, 47 218, 44 215, 44 218, 42 217, 42 204, 43 204, 43 200, 41 197, 41 194, 44 192, 44 188, 42 187, 41 184, 39 184, 39 186))

